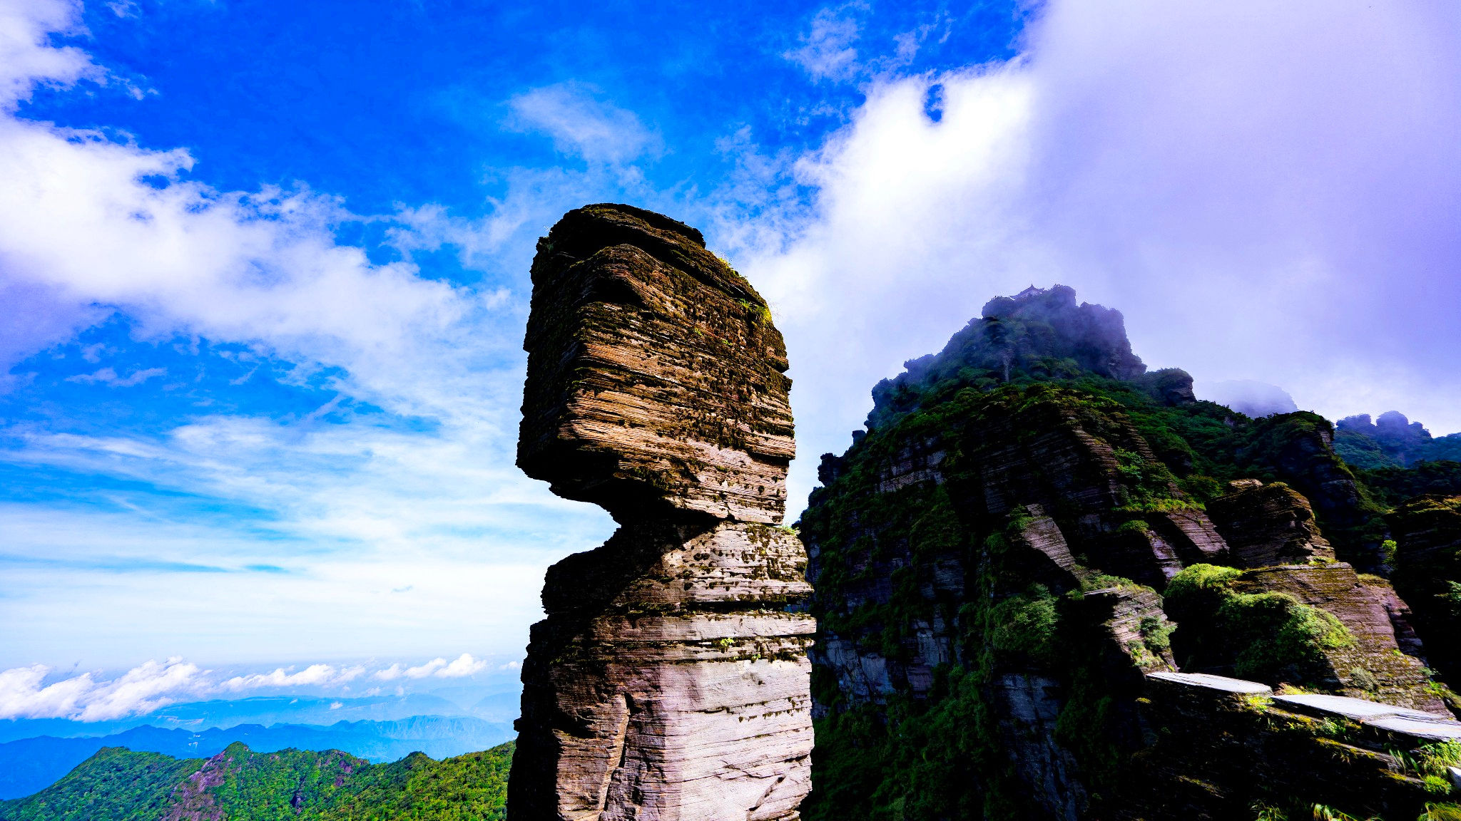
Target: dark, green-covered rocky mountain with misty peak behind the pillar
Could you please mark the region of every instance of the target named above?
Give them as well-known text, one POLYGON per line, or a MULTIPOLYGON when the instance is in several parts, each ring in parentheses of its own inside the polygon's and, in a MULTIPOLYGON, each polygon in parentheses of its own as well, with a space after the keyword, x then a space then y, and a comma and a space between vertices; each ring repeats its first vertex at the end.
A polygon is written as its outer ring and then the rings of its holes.
MULTIPOLYGON (((1163 671, 1445 713, 1404 603, 1351 564, 1382 564, 1384 530, 1328 424, 1189 387, 1145 373, 1119 314, 1052 289, 992 301, 874 390, 801 520, 808 818, 1143 817, 1166 789, 1134 777, 1163 671)), ((1419 806, 1407 783, 1391 811, 1419 806)), ((1328 798, 1296 784, 1270 798, 1328 798)), ((1251 798, 1214 783, 1195 817, 1251 798)))

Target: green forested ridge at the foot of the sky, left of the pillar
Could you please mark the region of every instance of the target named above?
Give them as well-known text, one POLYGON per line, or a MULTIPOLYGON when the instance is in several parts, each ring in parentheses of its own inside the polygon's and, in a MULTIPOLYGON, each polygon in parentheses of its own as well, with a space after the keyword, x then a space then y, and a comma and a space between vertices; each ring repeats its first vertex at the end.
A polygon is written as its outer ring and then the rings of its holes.
POLYGON ((0 802, 0 821, 495 821, 511 758, 511 744, 392 764, 243 744, 186 760, 110 746, 50 787, 0 802))

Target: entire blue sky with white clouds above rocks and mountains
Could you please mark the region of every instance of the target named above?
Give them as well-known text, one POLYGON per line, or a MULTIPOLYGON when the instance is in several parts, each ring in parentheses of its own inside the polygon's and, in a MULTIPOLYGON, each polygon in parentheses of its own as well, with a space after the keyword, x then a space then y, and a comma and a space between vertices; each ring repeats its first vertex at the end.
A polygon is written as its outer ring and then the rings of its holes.
POLYGON ((771 299, 793 497, 1030 283, 1199 387, 1461 429, 1458 35, 1347 0, 0 0, 0 714, 510 671, 542 570, 612 530, 513 467, 533 241, 586 202, 771 299))

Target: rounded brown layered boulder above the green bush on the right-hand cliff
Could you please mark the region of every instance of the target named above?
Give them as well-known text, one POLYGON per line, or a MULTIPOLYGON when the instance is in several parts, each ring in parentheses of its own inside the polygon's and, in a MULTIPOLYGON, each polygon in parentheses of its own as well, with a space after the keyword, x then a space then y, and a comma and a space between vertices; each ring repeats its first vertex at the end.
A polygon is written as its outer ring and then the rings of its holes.
POLYGON ((1334 558, 1330 542, 1319 535, 1309 500, 1283 482, 1230 482, 1227 494, 1208 503, 1207 514, 1232 549, 1237 567, 1334 558))

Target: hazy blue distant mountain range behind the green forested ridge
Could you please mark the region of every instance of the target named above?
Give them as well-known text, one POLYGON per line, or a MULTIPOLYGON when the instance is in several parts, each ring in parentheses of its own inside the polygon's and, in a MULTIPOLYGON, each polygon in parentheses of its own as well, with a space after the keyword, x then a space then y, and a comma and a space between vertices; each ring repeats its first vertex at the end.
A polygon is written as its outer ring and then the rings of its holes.
MULTIPOLYGON (((186 710, 169 709, 168 716, 149 716, 149 720, 213 720, 219 713, 244 714, 247 710, 256 710, 256 713, 248 714, 260 714, 257 710, 269 711, 269 706, 260 703, 272 700, 248 698, 244 701, 254 704, 247 707, 241 706, 243 701, 188 704, 184 706, 186 710)), ((285 698, 282 701, 286 704, 275 704, 275 707, 279 707, 281 713, 288 713, 286 707, 295 707, 301 700, 285 698)), ((345 710, 343 706, 329 710, 330 704, 337 701, 323 701, 324 709, 333 714, 345 710)), ((41 725, 48 722, 20 723, 41 725)), ((54 723, 70 730, 96 729, 96 725, 80 725, 79 722, 54 723)), ((396 720, 342 720, 329 726, 235 725, 202 732, 143 725, 105 736, 22 738, 0 744, 0 799, 20 798, 45 789, 102 746, 126 746, 133 751, 162 752, 177 758, 203 758, 221 752, 232 742, 244 742, 256 752, 273 752, 283 748, 340 749, 380 763, 396 761, 415 751, 425 752, 432 758, 449 758, 497 746, 514 735, 510 722, 488 722, 475 716, 411 716, 396 720)))

